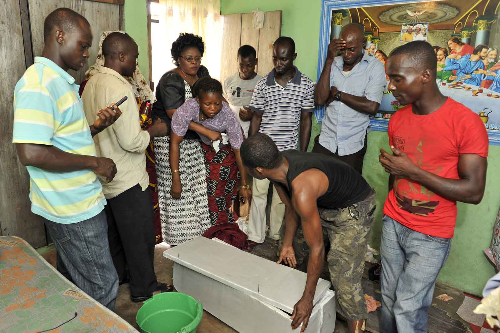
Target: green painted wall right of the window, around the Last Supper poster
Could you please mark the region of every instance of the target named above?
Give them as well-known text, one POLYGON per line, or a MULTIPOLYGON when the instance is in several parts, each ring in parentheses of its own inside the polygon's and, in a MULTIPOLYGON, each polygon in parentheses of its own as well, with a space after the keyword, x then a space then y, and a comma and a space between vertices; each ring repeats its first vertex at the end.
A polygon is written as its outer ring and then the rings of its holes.
MULTIPOLYGON (((319 44, 319 22, 321 0, 221 0, 222 14, 260 10, 282 10, 281 35, 295 40, 297 59, 295 65, 316 80, 317 50, 319 44)), ((265 18, 264 18, 265 19, 265 18)), ((313 138, 320 125, 313 122, 313 138)), ((311 145, 309 145, 309 148, 311 145)), ((378 163, 379 148, 388 150, 387 133, 371 131, 368 134, 368 149, 364 158, 363 176, 376 190, 379 203, 370 245, 380 246, 382 205, 387 196, 388 174, 378 163)), ((489 246, 493 224, 500 204, 500 147, 490 146, 487 185, 484 198, 479 205, 458 204, 458 219, 455 236, 448 261, 439 275, 439 281, 469 293, 480 295, 488 278, 495 274, 493 266, 482 250, 489 246)))

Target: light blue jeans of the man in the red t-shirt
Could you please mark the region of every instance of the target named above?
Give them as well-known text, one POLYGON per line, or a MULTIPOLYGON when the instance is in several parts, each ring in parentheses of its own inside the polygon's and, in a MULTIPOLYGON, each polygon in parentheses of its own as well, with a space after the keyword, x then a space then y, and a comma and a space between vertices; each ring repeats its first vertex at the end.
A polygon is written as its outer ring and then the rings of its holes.
POLYGON ((382 332, 427 332, 427 309, 451 238, 425 235, 382 219, 382 332))

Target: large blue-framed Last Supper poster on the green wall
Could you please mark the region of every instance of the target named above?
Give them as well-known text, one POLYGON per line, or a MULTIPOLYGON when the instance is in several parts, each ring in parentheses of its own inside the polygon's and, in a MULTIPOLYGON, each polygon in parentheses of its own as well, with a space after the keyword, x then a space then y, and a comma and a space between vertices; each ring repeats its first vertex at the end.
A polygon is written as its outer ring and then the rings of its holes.
MULTIPOLYGON (((342 26, 362 24, 365 52, 385 66, 390 52, 412 40, 426 40, 436 54, 436 84, 443 95, 466 105, 483 121, 491 144, 500 144, 500 0, 324 1, 318 74, 328 43, 342 26), (356 5, 356 3, 358 5, 356 5)), ((386 77, 388 83, 388 76, 386 77)), ((379 112, 371 117, 375 130, 402 105, 385 89, 379 112)), ((323 107, 316 110, 321 122, 323 107)))

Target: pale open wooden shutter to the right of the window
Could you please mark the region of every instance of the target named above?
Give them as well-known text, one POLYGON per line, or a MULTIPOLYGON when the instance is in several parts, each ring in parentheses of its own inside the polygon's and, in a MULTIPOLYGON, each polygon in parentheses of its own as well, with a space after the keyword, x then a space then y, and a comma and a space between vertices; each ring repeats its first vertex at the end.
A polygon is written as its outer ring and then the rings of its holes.
POLYGON ((267 74, 273 67, 272 43, 281 35, 281 10, 266 11, 264 26, 261 29, 253 28, 253 13, 223 16, 224 30, 220 58, 221 82, 238 70, 236 53, 241 45, 251 45, 255 48, 258 58, 255 70, 260 75, 267 74))

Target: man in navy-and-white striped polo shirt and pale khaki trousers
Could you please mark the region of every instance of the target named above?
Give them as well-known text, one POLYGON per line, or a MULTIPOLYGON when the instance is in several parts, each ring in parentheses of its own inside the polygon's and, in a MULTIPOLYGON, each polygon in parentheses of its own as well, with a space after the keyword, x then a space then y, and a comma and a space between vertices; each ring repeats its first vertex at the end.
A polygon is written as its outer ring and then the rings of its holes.
MULTIPOLYGON (((293 65, 297 53, 290 37, 281 36, 272 47, 274 68, 255 85, 249 108, 253 116, 248 136, 267 134, 278 150, 297 149, 300 133, 300 151, 305 151, 311 134, 311 116, 314 111, 314 83, 293 65), (299 131, 300 128, 300 131, 299 131)), ((265 206, 269 181, 253 179, 252 203, 248 218, 248 240, 265 240, 265 206)), ((269 237, 279 239, 284 205, 273 188, 269 237)))

